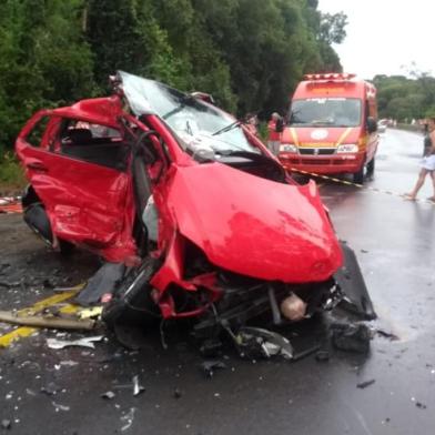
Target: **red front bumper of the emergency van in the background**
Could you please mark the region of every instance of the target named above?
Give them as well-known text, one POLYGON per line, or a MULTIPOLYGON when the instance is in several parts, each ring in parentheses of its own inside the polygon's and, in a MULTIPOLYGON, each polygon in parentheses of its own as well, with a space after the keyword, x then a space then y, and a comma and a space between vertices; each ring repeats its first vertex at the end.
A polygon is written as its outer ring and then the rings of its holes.
POLYGON ((282 152, 281 164, 289 171, 300 170, 318 174, 358 172, 364 163, 364 154, 300 155, 282 152))

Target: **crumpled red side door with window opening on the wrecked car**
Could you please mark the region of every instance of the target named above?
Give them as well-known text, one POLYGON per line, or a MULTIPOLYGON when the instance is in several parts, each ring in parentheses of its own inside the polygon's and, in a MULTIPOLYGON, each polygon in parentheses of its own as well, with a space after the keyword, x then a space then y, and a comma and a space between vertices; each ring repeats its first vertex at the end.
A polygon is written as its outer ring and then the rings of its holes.
POLYGON ((121 131, 104 143, 104 138, 94 136, 91 127, 94 131, 104 128, 40 112, 19 135, 17 153, 44 204, 54 235, 118 261, 135 251, 128 146, 121 131), (80 134, 75 134, 75 142, 68 142, 74 132, 87 129, 89 134, 82 134, 87 141, 82 138, 80 142, 80 134), (122 164, 118 165, 117 159, 123 160, 122 164))

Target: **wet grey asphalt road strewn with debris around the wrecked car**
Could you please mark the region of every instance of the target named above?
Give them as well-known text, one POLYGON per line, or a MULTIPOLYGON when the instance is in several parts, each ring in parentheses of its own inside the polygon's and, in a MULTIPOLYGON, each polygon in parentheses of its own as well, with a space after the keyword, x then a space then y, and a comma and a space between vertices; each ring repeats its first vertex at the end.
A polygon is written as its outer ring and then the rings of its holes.
MULTIPOLYGON (((421 149, 419 135, 387 131, 375 179, 366 185, 411 190, 421 149)), ((253 363, 229 350, 226 370, 206 378, 201 356, 183 336, 170 336, 168 351, 155 333, 139 352, 114 341, 97 343, 94 351, 54 351, 45 345, 54 333, 41 332, 0 350, 0 417, 11 421, 10 433, 433 434, 435 206, 323 181, 321 192, 337 233, 357 253, 380 316, 373 324, 398 341, 376 336, 368 356, 332 351, 326 363, 313 356, 253 363), (135 397, 133 375, 145 387, 135 397), (356 387, 371 380, 371 386, 356 387), (101 398, 107 391, 114 398, 101 398)), ((431 194, 427 184, 422 198, 431 194)), ((98 267, 83 254, 62 260, 28 234, 19 216, 0 216, 0 282, 24 279, 23 285, 0 286, 2 310, 29 306, 51 294, 43 284, 77 283, 98 267)), ((0 324, 1 333, 9 330, 0 324)), ((323 333, 322 320, 300 331, 316 340, 323 333)))

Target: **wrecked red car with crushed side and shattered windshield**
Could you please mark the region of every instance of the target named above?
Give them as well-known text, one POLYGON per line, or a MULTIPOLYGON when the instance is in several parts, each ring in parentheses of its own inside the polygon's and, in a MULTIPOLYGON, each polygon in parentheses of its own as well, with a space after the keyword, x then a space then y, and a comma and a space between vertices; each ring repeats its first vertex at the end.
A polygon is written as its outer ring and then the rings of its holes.
POLYGON ((113 94, 38 112, 17 140, 24 220, 55 250, 105 260, 79 296, 195 320, 201 335, 348 302, 374 311, 353 252, 313 181, 299 185, 242 122, 119 72, 113 94))

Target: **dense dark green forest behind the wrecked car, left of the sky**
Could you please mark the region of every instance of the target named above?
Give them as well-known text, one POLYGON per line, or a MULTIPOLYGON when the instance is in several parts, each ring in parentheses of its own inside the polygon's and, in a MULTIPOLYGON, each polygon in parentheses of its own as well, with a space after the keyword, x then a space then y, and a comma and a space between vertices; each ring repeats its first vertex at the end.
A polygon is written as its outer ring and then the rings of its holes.
POLYGON ((104 94, 117 69, 237 114, 282 111, 304 72, 341 71, 345 26, 317 0, 2 0, 0 152, 37 109, 104 94))

